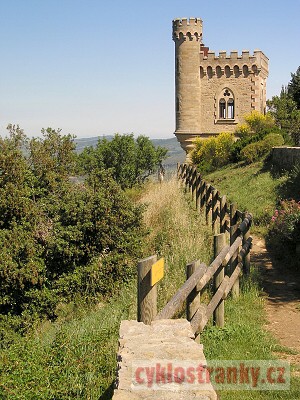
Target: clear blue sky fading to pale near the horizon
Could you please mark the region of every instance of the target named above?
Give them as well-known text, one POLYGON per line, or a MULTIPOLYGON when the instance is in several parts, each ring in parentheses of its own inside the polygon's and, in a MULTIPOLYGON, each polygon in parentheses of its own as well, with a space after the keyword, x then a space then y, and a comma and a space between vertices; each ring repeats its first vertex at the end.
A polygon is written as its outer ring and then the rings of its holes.
POLYGON ((211 50, 261 49, 267 97, 300 65, 300 0, 0 0, 0 134, 172 137, 172 19, 200 17, 211 50))

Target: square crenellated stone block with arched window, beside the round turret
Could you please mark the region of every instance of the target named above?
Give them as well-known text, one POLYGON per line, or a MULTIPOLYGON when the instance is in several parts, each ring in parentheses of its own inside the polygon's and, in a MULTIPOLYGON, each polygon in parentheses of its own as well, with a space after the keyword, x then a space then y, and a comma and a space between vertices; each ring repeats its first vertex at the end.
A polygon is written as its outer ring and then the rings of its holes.
POLYGON ((266 107, 266 79, 268 59, 259 50, 250 55, 221 51, 219 55, 200 53, 201 128, 202 134, 233 132, 244 122, 245 114, 256 110, 264 113, 266 107), (234 96, 234 119, 220 119, 219 100, 229 89, 234 96))

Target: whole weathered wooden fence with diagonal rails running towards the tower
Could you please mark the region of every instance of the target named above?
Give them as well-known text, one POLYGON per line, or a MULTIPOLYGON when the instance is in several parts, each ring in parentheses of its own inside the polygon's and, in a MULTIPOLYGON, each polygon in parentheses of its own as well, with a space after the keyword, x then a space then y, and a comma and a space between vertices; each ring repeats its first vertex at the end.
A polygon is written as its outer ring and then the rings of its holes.
POLYGON ((252 215, 241 212, 235 203, 201 178, 196 169, 187 164, 177 167, 177 177, 191 193, 199 212, 205 211, 206 222, 214 233, 214 260, 207 266, 200 260, 186 266, 186 281, 157 313, 157 285, 151 283, 152 266, 157 257, 141 260, 138 264, 138 321, 150 324, 154 319, 170 319, 186 303, 186 317, 197 336, 213 316, 215 325, 224 326, 224 300, 230 291, 239 295, 239 276, 250 270, 252 215), (227 244, 227 242, 229 242, 227 244), (201 293, 213 280, 213 294, 209 304, 201 303, 201 293))

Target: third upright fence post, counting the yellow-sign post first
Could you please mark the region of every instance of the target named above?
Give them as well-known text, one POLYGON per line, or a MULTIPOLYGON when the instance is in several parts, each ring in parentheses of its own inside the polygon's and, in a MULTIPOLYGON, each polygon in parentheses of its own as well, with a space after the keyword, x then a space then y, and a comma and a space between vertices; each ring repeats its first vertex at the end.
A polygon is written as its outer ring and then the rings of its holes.
MULTIPOLYGON (((225 233, 220 233, 219 235, 214 235, 214 258, 216 258, 221 250, 226 246, 226 236, 225 233)), ((214 275, 214 293, 218 290, 224 279, 224 266, 218 274, 214 275)), ((216 307, 213 314, 214 325, 220 328, 224 327, 224 300, 221 300, 218 307, 216 307)))

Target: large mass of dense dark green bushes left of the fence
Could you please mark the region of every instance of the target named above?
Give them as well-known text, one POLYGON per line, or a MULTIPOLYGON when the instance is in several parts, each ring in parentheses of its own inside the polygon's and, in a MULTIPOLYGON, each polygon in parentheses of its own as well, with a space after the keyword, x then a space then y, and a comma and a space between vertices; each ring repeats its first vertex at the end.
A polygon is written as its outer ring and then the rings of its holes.
POLYGON ((0 139, 0 313, 3 321, 22 316, 20 327, 130 279, 144 230, 142 209, 108 171, 70 180, 71 136, 48 129, 29 140, 19 127, 9 131, 0 139))

